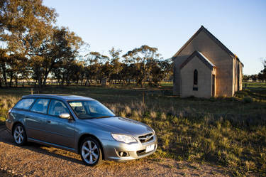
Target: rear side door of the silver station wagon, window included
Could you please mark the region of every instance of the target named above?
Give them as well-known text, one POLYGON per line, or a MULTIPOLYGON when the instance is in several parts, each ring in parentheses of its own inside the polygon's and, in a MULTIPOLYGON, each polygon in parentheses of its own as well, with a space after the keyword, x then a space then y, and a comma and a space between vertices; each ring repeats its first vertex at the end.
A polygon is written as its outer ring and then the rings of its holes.
POLYGON ((45 136, 47 136, 45 133, 45 122, 49 102, 50 99, 37 99, 31 107, 31 111, 25 115, 28 138, 45 140, 45 136))

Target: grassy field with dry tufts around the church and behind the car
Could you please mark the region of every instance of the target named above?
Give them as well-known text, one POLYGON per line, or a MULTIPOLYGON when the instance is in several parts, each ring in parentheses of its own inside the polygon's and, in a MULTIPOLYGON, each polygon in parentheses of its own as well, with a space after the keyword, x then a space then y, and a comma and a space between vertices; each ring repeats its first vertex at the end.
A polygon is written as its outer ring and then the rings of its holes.
MULTIPOLYGON (((155 158, 201 161, 228 167, 235 176, 266 173, 266 87, 248 83, 235 97, 198 99, 172 96, 161 87, 45 87, 34 93, 93 97, 116 114, 149 124, 157 132, 155 158)), ((31 88, 0 89, 0 120, 31 88)))

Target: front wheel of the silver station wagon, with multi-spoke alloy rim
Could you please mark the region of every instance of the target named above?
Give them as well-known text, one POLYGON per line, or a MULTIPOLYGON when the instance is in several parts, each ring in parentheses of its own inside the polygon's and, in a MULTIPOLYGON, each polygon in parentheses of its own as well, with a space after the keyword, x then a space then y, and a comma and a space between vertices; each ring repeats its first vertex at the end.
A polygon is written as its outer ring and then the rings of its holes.
POLYGON ((82 161, 87 166, 98 166, 102 162, 102 151, 99 141, 93 137, 83 139, 79 148, 82 161))

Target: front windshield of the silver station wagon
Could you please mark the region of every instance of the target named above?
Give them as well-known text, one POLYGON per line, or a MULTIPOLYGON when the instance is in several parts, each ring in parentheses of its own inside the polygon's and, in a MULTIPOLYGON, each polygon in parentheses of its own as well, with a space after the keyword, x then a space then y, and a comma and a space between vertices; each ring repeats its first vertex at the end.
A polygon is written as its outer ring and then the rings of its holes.
POLYGON ((79 100, 68 102, 79 119, 114 117, 115 114, 97 101, 79 100))

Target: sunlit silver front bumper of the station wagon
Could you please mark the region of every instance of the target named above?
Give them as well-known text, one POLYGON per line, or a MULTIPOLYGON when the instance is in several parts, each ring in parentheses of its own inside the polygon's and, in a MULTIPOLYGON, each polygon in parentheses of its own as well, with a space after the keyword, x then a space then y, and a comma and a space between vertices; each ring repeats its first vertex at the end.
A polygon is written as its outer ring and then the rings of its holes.
POLYGON ((157 149, 157 136, 153 141, 149 141, 145 144, 140 143, 132 143, 126 144, 123 142, 115 141, 115 140, 103 140, 101 139, 101 143, 103 145, 104 150, 104 159, 111 161, 129 161, 134 159, 140 159, 145 156, 149 156, 153 154, 157 149), (147 146, 154 144, 155 148, 153 151, 145 152, 147 146), (121 156, 120 153, 123 152, 126 156, 121 156))

